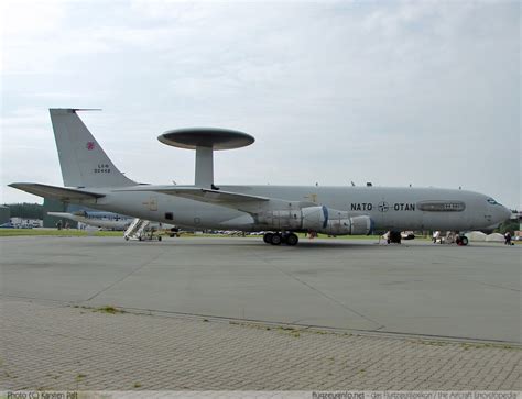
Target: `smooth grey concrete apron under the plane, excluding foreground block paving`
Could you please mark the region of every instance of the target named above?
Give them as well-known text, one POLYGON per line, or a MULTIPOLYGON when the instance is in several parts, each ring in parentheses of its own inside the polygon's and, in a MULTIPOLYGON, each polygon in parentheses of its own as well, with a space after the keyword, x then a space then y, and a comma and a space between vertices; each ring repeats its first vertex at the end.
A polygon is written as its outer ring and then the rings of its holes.
POLYGON ((521 250, 372 240, 0 239, 6 297, 521 343, 521 250))

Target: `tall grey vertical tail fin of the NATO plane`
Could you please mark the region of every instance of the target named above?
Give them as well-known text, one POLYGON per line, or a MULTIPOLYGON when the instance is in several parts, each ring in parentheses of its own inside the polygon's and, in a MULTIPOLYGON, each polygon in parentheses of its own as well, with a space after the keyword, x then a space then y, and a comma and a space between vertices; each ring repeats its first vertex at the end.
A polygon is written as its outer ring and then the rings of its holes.
POLYGON ((75 109, 50 109, 66 187, 134 186, 112 164, 75 109))

